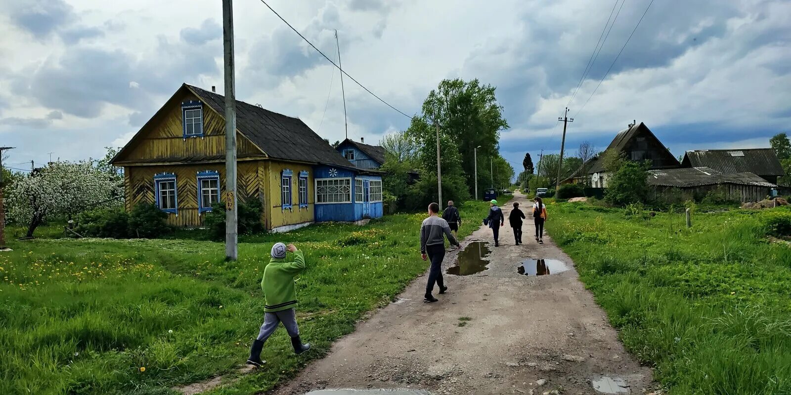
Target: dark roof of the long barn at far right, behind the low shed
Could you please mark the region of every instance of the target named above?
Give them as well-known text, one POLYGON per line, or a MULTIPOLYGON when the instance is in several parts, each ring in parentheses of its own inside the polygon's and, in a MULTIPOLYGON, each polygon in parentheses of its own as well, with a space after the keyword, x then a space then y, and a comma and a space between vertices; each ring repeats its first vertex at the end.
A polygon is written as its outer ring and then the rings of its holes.
POLYGON ((723 173, 749 172, 757 175, 784 175, 774 149, 699 149, 687 151, 683 167, 711 167, 723 173))

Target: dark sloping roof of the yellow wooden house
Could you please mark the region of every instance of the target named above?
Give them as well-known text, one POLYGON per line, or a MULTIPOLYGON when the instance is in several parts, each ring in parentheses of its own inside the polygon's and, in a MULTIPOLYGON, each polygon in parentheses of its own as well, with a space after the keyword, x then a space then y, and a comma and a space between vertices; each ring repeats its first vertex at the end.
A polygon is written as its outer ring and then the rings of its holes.
MULTIPOLYGON (((225 96, 184 85, 195 92, 204 103, 225 116, 225 96)), ((354 167, 300 119, 240 100, 237 100, 237 129, 272 158, 354 167)))

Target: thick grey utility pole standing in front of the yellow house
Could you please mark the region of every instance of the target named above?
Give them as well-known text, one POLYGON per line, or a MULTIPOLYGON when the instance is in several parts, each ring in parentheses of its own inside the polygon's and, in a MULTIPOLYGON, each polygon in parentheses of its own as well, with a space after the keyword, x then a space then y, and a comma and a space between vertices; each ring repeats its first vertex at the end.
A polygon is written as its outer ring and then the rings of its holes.
POLYGON ((239 258, 237 243, 237 95, 233 81, 233 4, 222 0, 225 69, 225 259, 239 258))

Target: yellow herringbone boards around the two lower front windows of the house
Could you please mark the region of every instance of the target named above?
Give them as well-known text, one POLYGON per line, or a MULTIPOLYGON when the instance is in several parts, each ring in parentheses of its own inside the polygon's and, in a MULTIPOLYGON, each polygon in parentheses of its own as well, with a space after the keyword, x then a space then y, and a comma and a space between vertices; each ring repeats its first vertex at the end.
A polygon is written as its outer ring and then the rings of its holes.
MULTIPOLYGON (((237 199, 264 198, 259 178, 260 161, 240 162, 237 169, 237 199)), ((168 224, 180 228, 198 228, 203 226, 203 216, 198 211, 198 180, 199 171, 217 171, 220 174, 220 189, 225 192, 225 164, 195 164, 167 166, 131 166, 124 167, 124 189, 126 190, 126 208, 131 210, 139 203, 153 203, 153 176, 159 173, 176 175, 176 199, 178 214, 168 213, 168 224)), ((262 219, 266 216, 267 207, 263 205, 262 219)))

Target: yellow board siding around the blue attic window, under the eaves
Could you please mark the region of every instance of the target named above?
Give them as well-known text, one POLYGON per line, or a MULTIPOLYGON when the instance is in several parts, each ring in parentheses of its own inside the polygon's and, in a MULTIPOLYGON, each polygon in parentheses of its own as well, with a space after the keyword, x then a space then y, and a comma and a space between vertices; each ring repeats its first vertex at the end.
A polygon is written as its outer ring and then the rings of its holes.
MULTIPOLYGON (((151 161, 154 159, 175 160, 191 156, 225 155, 225 119, 206 104, 203 105, 203 137, 184 139, 181 103, 198 100, 191 93, 175 100, 170 108, 157 115, 156 119, 141 131, 142 135, 133 141, 130 150, 124 153, 124 162, 134 160, 151 161)), ((237 156, 263 156, 247 137, 237 133, 237 156)))

